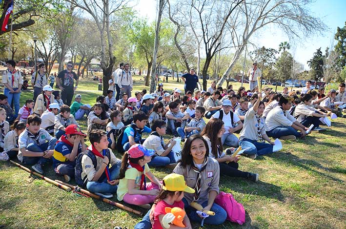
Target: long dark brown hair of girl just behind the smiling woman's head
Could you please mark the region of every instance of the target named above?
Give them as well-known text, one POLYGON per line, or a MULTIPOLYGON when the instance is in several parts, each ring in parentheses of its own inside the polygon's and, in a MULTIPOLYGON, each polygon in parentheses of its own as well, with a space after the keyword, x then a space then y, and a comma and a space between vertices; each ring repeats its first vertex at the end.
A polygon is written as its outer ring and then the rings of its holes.
POLYGON ((215 158, 218 158, 218 153, 223 150, 221 138, 218 137, 223 125, 224 122, 221 119, 211 119, 201 133, 202 136, 209 138, 211 142, 211 152, 209 153, 214 154, 215 158))

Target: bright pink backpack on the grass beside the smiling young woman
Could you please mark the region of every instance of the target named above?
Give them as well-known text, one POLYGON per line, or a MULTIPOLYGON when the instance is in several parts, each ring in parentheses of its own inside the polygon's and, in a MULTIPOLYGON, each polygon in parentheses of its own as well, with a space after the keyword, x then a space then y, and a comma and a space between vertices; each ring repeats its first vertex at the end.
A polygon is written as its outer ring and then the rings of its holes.
POLYGON ((233 198, 231 193, 220 192, 215 198, 215 203, 220 205, 227 212, 227 220, 240 225, 244 224, 244 207, 233 198))

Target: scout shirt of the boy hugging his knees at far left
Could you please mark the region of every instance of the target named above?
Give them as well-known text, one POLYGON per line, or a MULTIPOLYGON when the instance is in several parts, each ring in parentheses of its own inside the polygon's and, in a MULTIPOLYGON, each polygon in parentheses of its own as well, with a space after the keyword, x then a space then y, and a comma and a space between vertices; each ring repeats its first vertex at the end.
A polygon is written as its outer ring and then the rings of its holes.
POLYGON ((49 135, 49 133, 45 130, 40 128, 39 132, 37 134, 32 134, 29 129, 25 129, 19 136, 18 139, 18 145, 19 145, 19 152, 18 152, 18 160, 20 162, 23 162, 23 154, 20 151, 22 148, 26 148, 29 144, 33 143, 35 145, 41 146, 42 144, 45 144, 46 142, 50 141, 53 137, 49 135))

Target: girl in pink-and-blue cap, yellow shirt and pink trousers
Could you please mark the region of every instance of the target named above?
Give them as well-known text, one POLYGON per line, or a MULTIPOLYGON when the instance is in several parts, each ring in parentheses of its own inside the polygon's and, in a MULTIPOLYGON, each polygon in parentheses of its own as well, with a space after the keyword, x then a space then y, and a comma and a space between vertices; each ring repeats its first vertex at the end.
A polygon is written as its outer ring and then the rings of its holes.
POLYGON ((146 149, 140 144, 131 146, 122 156, 122 167, 119 175, 117 198, 128 204, 150 208, 160 193, 160 181, 151 173, 147 163, 150 162, 154 150, 146 149), (151 183, 146 183, 147 176, 151 183))

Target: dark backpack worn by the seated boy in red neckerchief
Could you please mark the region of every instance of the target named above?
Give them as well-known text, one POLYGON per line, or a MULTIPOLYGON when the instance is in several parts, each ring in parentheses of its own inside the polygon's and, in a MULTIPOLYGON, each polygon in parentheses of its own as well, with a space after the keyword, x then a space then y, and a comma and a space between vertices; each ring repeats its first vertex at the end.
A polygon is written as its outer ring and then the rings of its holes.
MULTIPOLYGON (((108 160, 110 162, 110 152, 109 149, 106 149, 106 156, 108 157, 108 160)), ((83 171, 83 168, 81 166, 81 158, 83 157, 83 155, 87 155, 88 157, 90 157, 91 161, 93 162, 94 168, 96 168, 97 166, 97 160, 96 160, 96 156, 93 152, 91 152, 89 149, 85 150, 84 152, 81 152, 80 154, 78 154, 77 159, 76 159, 76 167, 75 167, 75 180, 76 183, 79 187, 86 187, 86 183, 88 181, 88 177, 85 176, 84 179, 81 178, 81 173, 83 171)), ((107 167, 109 166, 109 163, 107 165, 107 167)))

